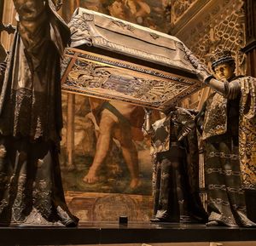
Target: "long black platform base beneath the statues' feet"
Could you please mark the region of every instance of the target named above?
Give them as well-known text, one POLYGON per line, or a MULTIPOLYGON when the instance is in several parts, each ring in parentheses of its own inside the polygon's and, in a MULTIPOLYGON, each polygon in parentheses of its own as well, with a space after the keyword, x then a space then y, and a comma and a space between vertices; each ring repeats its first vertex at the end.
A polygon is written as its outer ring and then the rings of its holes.
MULTIPOLYGON (((256 229, 196 224, 87 222, 77 228, 1 227, 0 245, 85 245, 256 241, 256 229)), ((141 244, 140 244, 141 245, 141 244)), ((230 244, 229 244, 230 245, 230 244)))

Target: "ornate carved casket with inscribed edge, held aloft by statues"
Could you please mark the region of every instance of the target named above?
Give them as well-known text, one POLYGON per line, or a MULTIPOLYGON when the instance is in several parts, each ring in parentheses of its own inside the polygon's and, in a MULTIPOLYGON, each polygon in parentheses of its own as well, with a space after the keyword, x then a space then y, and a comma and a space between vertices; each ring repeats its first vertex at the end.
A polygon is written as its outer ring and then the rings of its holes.
POLYGON ((201 89, 199 61, 176 37, 77 9, 62 89, 163 110, 201 89))

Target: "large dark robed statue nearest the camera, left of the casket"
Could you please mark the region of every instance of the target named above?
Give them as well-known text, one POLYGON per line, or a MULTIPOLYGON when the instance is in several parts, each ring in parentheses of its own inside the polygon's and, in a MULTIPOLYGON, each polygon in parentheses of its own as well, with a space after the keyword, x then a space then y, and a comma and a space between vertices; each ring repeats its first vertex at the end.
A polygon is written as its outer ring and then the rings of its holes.
POLYGON ((70 31, 51 0, 14 0, 18 26, 0 96, 0 224, 76 226, 58 159, 60 57, 70 31))

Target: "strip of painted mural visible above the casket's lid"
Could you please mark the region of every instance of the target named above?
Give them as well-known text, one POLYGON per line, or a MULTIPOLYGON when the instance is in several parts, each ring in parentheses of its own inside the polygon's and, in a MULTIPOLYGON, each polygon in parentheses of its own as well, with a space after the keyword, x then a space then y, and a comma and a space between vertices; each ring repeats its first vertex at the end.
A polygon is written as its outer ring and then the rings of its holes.
POLYGON ((168 31, 170 16, 165 6, 169 0, 66 0, 63 3, 62 15, 67 21, 75 8, 82 7, 154 30, 168 31))

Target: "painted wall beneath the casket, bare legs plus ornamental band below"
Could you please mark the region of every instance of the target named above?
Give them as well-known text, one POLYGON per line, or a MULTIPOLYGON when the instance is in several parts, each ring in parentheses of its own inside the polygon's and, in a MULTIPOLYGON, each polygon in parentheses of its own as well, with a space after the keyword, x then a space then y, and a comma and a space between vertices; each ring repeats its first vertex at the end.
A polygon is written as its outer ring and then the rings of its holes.
POLYGON ((69 208, 82 221, 117 221, 120 215, 149 220, 152 163, 150 140, 141 130, 143 108, 76 94, 70 163, 67 101, 63 93, 61 172, 69 208))

